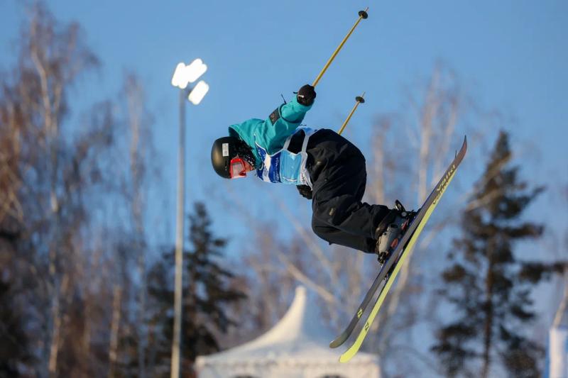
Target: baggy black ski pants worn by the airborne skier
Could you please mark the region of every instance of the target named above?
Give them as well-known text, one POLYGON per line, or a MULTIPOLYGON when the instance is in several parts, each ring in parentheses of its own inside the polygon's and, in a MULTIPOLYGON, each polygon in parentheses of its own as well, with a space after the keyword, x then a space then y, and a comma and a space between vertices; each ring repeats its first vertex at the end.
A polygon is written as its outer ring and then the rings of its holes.
POLYGON ((349 140, 321 129, 307 145, 312 180, 312 229, 329 244, 374 252, 375 230, 389 209, 361 202, 367 173, 365 157, 349 140))

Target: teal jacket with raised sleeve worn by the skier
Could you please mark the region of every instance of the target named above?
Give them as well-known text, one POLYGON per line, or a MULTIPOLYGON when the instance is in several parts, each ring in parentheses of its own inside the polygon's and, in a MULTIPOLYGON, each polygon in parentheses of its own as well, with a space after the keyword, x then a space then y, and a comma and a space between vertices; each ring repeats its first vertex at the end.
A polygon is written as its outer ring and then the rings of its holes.
POLYGON ((307 111, 311 108, 311 105, 305 106, 293 99, 287 104, 278 106, 264 121, 252 118, 229 126, 229 135, 238 135, 246 144, 251 146, 256 157, 256 166, 260 167, 262 162, 258 152, 256 152, 256 145, 264 148, 268 154, 281 150, 286 138, 300 126, 307 111))

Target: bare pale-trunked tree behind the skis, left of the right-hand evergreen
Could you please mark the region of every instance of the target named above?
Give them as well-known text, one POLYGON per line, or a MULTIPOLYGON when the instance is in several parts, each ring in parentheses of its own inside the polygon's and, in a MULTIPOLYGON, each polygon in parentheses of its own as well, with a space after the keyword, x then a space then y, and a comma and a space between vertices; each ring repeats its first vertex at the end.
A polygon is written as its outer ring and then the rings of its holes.
MULTIPOLYGON (((371 165, 381 167, 373 172, 378 174, 377 177, 371 175, 368 191, 371 201, 392 204, 395 199, 400 199, 408 207, 421 204, 452 158, 450 149, 457 145, 458 138, 463 138, 463 135, 457 137, 455 132, 460 121, 461 130, 464 130, 464 120, 460 119, 466 113, 464 94, 461 93, 453 72, 437 65, 426 88, 420 89, 418 86, 409 91, 406 113, 378 118, 374 138, 376 145, 372 147, 375 155, 371 165), (402 146, 405 147, 401 148, 402 146), (415 201, 413 196, 417 197, 415 201)), ((447 199, 444 197, 444 200, 447 199)), ((430 221, 422 235, 422 243, 415 247, 416 250, 426 248, 423 240, 432 240, 444 228, 443 223, 436 224, 433 221, 430 221)), ((388 361, 392 360, 389 352, 395 350, 396 335, 402 329, 411 329, 419 318, 417 311, 420 301, 413 297, 422 289, 417 281, 420 272, 413 271, 412 257, 413 251, 410 251, 398 274, 397 284, 383 304, 368 340, 369 350, 376 351, 381 356, 383 369, 388 368, 388 361), (405 306, 401 308, 400 304, 405 306)), ((403 350, 408 350, 410 355, 420 355, 412 345, 402 345, 405 347, 403 350)), ((420 359, 422 365, 435 366, 433 362, 427 362, 428 357, 425 355, 420 359)))

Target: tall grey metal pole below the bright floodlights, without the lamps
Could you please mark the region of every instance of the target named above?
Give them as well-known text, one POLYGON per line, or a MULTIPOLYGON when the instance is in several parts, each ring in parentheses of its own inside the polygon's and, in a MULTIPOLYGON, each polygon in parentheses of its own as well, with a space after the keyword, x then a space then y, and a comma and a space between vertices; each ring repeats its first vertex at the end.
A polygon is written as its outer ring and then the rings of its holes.
POLYGON ((185 191, 185 91, 180 89, 180 140, 178 156, 178 209, 175 226, 175 289, 172 363, 170 378, 180 377, 180 346, 182 343, 182 267, 183 267, 183 214, 185 191))

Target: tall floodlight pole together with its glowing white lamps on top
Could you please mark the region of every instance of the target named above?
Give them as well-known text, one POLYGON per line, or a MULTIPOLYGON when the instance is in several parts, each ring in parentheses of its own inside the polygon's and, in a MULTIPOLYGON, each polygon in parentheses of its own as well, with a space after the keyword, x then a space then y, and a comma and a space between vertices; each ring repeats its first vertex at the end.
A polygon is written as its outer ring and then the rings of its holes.
POLYGON ((174 289, 174 321, 170 377, 180 377, 181 342, 182 342, 182 273, 183 273, 183 240, 185 212, 185 99, 198 105, 209 91, 209 85, 201 80, 195 87, 188 87, 207 71, 201 59, 185 65, 179 63, 175 67, 172 85, 180 89, 180 136, 178 151, 178 207, 175 221, 175 289, 174 289))

